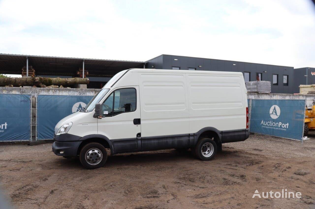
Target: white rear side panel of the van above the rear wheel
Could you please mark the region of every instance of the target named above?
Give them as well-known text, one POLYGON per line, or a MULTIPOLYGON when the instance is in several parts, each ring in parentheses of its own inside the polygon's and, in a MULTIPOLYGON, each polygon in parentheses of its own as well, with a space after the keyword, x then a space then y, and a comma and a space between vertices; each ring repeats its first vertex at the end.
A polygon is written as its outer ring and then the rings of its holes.
POLYGON ((187 73, 186 79, 191 133, 204 127, 219 131, 246 128, 247 100, 241 75, 187 73))

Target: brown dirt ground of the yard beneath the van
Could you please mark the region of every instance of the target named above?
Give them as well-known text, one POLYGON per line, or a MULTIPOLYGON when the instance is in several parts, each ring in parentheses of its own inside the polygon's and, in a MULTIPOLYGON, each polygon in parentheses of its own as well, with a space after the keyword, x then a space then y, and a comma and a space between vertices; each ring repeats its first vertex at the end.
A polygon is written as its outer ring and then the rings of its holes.
POLYGON ((109 156, 103 168, 52 144, 0 145, 0 188, 17 208, 314 208, 315 133, 301 142, 251 135, 212 161, 176 150, 109 156), (252 198, 287 189, 302 198, 252 198))

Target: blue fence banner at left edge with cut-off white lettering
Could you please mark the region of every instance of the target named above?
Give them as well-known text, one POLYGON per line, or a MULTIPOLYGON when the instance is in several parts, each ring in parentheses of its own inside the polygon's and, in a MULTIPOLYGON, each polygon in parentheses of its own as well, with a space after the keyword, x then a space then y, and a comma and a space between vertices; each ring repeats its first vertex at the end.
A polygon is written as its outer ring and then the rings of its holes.
POLYGON ((0 94, 0 141, 31 138, 31 95, 0 94))

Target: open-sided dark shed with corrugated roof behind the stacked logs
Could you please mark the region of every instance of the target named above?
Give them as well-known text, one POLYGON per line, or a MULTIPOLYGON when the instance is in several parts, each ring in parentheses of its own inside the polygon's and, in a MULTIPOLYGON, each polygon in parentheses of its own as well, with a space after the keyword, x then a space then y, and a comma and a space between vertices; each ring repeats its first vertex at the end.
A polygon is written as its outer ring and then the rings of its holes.
POLYGON ((29 66, 35 69, 36 75, 57 77, 78 77, 77 71, 83 67, 83 60, 85 71, 89 72, 90 77, 112 77, 117 72, 129 68, 143 68, 146 64, 146 62, 125 60, 0 54, 0 73, 21 74, 22 67, 26 66, 26 57, 29 66))

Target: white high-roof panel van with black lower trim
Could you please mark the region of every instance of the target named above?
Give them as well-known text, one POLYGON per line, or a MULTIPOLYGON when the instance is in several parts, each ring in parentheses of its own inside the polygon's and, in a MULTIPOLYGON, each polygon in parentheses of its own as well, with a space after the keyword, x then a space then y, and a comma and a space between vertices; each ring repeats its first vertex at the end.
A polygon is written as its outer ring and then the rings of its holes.
POLYGON ((129 69, 55 127, 53 152, 88 169, 110 154, 188 149, 210 160, 222 143, 249 137, 241 72, 129 69))

